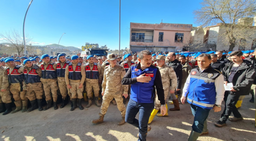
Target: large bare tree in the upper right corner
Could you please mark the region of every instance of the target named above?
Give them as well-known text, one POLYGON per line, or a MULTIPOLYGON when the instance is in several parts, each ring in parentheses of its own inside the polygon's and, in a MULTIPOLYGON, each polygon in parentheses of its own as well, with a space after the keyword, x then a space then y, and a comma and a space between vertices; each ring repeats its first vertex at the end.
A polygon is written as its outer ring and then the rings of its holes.
POLYGON ((255 27, 250 25, 252 21, 239 24, 241 18, 245 21, 253 20, 256 15, 255 0, 203 0, 200 4, 201 9, 194 11, 196 22, 203 26, 221 23, 223 32, 219 34, 223 43, 229 45, 229 51, 233 50, 236 43, 240 43, 241 38, 249 39, 255 34, 252 30, 255 27))

